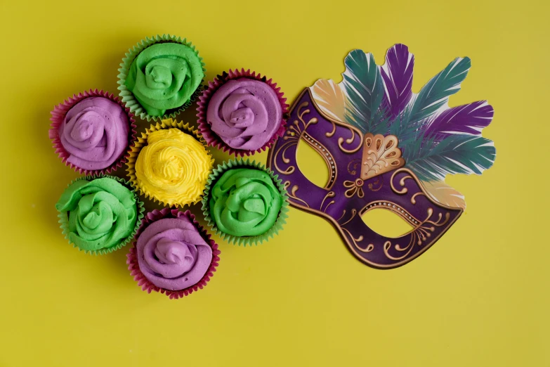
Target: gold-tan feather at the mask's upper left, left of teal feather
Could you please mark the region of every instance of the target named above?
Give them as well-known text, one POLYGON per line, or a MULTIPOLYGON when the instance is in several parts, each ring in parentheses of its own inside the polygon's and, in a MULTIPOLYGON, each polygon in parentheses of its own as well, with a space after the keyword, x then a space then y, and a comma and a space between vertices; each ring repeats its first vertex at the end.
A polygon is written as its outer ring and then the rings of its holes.
POLYGON ((325 112, 325 115, 340 122, 344 121, 346 96, 344 96, 340 84, 334 83, 332 79, 319 79, 310 90, 317 106, 322 112, 325 112))

